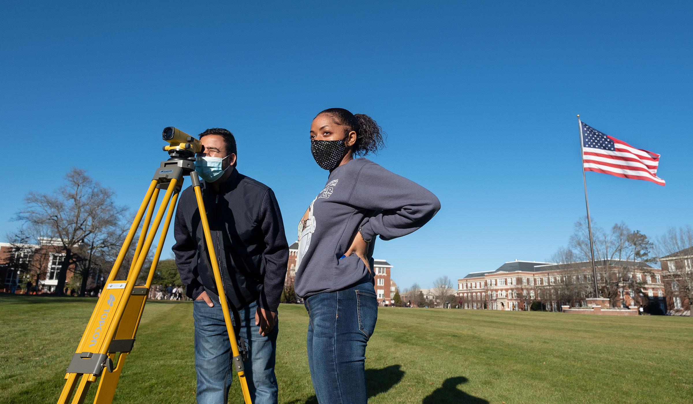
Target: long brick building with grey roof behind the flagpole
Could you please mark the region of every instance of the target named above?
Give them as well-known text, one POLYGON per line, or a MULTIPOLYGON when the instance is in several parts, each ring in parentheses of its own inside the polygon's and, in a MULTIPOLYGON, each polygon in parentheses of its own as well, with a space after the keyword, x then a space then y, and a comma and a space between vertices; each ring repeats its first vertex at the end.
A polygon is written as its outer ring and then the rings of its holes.
MULTIPOLYGON (((586 306, 593 289, 590 261, 569 264, 510 261, 497 270, 471 272, 457 280, 462 308, 529 310, 532 302, 560 311, 561 305, 586 306)), ((651 310, 665 307, 662 270, 640 261, 597 261, 597 284, 611 307, 643 304, 651 310), (607 265, 608 264, 608 265, 607 265), (611 281, 606 281, 606 279, 611 281), (617 279, 620 279, 617 281, 617 279), (631 292, 631 289, 633 291, 631 292)))

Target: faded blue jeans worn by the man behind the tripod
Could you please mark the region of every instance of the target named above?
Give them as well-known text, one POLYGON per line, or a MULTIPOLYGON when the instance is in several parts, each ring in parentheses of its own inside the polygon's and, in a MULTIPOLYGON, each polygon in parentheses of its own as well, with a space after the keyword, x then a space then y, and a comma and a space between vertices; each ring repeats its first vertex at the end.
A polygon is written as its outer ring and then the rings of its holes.
MULTIPOLYGON (((248 344, 248 360, 243 363, 245 376, 254 404, 275 404, 277 377, 274 376, 274 359, 277 354, 279 318, 270 334, 263 337, 258 333, 260 327, 255 325, 257 307, 257 302, 254 302, 238 310, 241 317, 240 336, 248 344)), ((198 404, 227 403, 233 367, 231 344, 221 304, 214 301, 214 307, 209 307, 204 300, 195 300, 193 318, 198 404)))

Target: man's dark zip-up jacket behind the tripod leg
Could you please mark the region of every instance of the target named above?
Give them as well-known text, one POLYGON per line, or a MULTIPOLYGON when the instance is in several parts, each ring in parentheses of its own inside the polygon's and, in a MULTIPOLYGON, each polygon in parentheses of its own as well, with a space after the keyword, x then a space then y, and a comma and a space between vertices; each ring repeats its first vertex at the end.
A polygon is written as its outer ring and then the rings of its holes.
MULTIPOLYGON (((277 311, 289 259, 279 204, 270 187, 231 169, 219 193, 200 180, 224 289, 236 308, 257 300, 261 308, 277 311)), ((196 299, 207 290, 218 301, 192 186, 179 197, 174 236, 175 263, 186 295, 196 299)))

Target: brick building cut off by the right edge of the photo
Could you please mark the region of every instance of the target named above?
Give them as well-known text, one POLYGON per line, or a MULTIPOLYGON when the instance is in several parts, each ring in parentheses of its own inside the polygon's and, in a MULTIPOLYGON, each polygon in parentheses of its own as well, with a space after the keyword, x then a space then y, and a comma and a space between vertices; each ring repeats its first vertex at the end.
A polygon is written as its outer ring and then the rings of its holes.
POLYGON ((693 247, 659 258, 665 281, 667 315, 691 315, 693 247))

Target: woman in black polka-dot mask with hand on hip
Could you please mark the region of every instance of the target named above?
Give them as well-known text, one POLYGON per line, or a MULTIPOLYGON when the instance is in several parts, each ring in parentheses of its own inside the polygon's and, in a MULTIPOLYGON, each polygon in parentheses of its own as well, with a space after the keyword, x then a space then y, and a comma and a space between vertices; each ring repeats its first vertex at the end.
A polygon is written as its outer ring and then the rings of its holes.
POLYGON ((366 344, 376 326, 375 237, 405 236, 440 209, 430 191, 363 156, 383 147, 364 114, 331 108, 310 126, 315 162, 327 183, 299 222, 295 290, 308 310, 308 364, 317 401, 367 403, 366 344))

